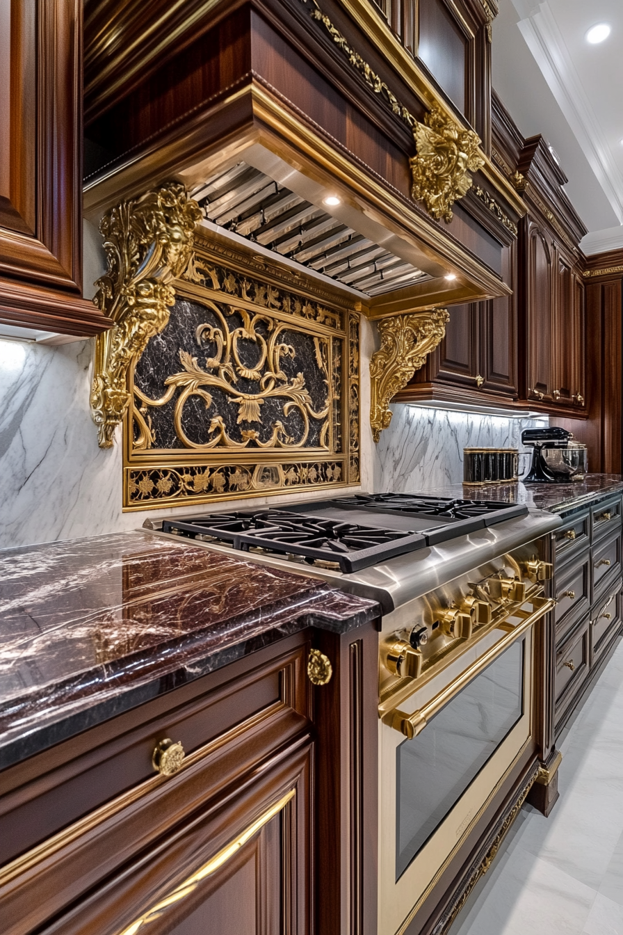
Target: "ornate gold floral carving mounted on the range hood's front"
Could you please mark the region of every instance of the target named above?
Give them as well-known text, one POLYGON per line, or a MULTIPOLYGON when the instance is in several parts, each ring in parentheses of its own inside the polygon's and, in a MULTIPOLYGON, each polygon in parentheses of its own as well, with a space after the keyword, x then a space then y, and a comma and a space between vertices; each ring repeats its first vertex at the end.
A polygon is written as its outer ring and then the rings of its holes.
POLYGON ((485 165, 480 137, 465 130, 438 105, 415 122, 417 154, 410 160, 411 194, 423 201, 433 218, 452 220, 452 205, 472 187, 470 172, 485 165))

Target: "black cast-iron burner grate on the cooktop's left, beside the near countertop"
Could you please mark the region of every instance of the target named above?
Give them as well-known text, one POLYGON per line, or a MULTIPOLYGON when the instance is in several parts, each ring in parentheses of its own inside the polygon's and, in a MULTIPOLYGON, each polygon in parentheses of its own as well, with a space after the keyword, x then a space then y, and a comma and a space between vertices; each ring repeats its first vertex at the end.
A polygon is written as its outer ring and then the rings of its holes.
POLYGON ((164 520, 163 532, 229 542, 243 552, 261 549, 297 555, 345 573, 427 545, 424 536, 408 530, 285 510, 208 513, 189 520, 164 520))

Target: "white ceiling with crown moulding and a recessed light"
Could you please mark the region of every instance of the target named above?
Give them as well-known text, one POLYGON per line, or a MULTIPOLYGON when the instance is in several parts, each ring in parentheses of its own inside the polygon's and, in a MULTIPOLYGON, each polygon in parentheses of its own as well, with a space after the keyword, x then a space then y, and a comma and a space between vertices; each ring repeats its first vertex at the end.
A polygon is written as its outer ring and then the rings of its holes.
POLYGON ((524 137, 542 133, 591 232, 585 252, 623 246, 623 0, 502 0, 493 86, 524 137), (585 36, 608 22, 599 45, 585 36))

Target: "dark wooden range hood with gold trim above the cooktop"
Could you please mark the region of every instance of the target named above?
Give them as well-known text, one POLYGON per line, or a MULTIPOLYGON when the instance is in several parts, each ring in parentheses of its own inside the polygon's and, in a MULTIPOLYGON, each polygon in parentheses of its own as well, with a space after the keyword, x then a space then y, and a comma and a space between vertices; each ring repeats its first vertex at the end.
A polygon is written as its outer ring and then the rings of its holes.
MULTIPOLYGON (((85 7, 88 217, 167 180, 201 198, 213 180, 248 168, 404 271, 387 290, 374 276, 373 287, 348 290, 352 308, 368 318, 404 323, 406 315, 511 294, 502 257, 525 213, 521 197, 489 158, 487 127, 478 127, 481 143, 372 4, 155 7, 149 28, 134 0, 85 7), (446 163, 441 172, 435 159, 446 163), (328 195, 339 204, 327 207, 328 195)), ((335 279, 337 290, 344 284, 335 279)), ((413 352, 418 335, 413 327, 409 334, 413 352)), ((411 354, 415 367, 420 356, 411 354)), ((386 413, 399 384, 402 377, 383 390, 386 413)))

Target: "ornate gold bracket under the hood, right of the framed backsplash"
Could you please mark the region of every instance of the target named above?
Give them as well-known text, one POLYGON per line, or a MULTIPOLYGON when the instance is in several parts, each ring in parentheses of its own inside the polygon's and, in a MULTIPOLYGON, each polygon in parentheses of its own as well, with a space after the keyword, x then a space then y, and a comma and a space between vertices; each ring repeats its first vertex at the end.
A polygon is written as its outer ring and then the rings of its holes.
POLYGON ((389 400, 411 380, 416 370, 446 334, 446 309, 411 311, 381 319, 381 346, 370 361, 370 424, 375 441, 391 422, 389 400))

